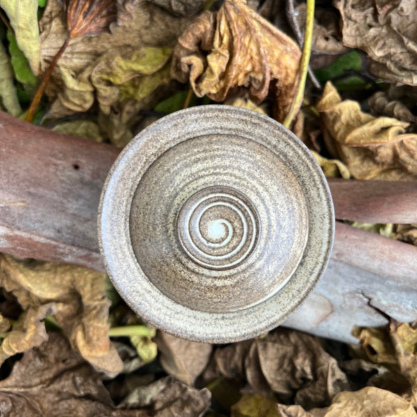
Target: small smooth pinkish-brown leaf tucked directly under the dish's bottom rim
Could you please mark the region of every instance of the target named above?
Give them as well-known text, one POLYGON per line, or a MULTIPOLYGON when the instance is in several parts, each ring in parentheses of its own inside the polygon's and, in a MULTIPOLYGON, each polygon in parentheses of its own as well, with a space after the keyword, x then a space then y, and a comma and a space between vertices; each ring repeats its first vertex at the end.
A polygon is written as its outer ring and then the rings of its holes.
POLYGON ((208 343, 186 341, 165 332, 158 332, 155 341, 163 368, 188 385, 193 385, 206 368, 213 350, 208 343))

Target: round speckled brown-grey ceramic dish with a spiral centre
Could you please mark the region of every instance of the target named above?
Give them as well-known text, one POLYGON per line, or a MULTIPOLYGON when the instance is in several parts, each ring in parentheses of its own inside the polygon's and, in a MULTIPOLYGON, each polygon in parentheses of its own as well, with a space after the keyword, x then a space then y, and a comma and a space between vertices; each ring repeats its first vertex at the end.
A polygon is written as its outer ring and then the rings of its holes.
POLYGON ((267 116, 188 108, 131 140, 101 195, 99 243, 124 300, 194 341, 251 338, 313 290, 334 212, 309 149, 267 116))

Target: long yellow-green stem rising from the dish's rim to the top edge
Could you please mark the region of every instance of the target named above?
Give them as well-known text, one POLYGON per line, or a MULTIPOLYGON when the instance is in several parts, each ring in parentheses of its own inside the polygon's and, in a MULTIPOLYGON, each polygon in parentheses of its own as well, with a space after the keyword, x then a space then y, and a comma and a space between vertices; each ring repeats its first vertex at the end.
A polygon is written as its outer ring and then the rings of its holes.
POLYGON ((291 104, 290 111, 284 120, 284 126, 290 127, 294 120, 295 114, 300 109, 302 99, 304 97, 304 89, 306 87, 307 72, 309 70, 309 61, 311 54, 311 42, 313 41, 313 26, 314 26, 314 7, 315 0, 307 0, 306 10, 306 31, 304 33, 304 47, 302 49, 302 56, 300 60, 300 80, 298 82, 297 92, 291 104))

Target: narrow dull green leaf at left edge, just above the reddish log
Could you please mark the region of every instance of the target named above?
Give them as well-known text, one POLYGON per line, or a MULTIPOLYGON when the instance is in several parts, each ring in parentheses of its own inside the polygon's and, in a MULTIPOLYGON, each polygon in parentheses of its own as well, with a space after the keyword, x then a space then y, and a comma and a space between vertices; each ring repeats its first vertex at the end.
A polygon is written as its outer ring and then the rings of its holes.
POLYGON ((0 103, 4 110, 15 117, 22 113, 13 83, 13 68, 3 43, 0 41, 0 103))

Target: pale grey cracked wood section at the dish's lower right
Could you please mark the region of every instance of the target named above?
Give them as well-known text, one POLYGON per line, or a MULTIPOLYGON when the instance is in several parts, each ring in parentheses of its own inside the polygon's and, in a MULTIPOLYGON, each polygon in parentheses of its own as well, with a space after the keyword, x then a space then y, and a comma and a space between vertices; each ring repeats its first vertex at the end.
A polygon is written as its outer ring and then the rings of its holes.
POLYGON ((417 319, 417 247, 336 222, 322 279, 284 325, 347 343, 354 326, 417 319))

